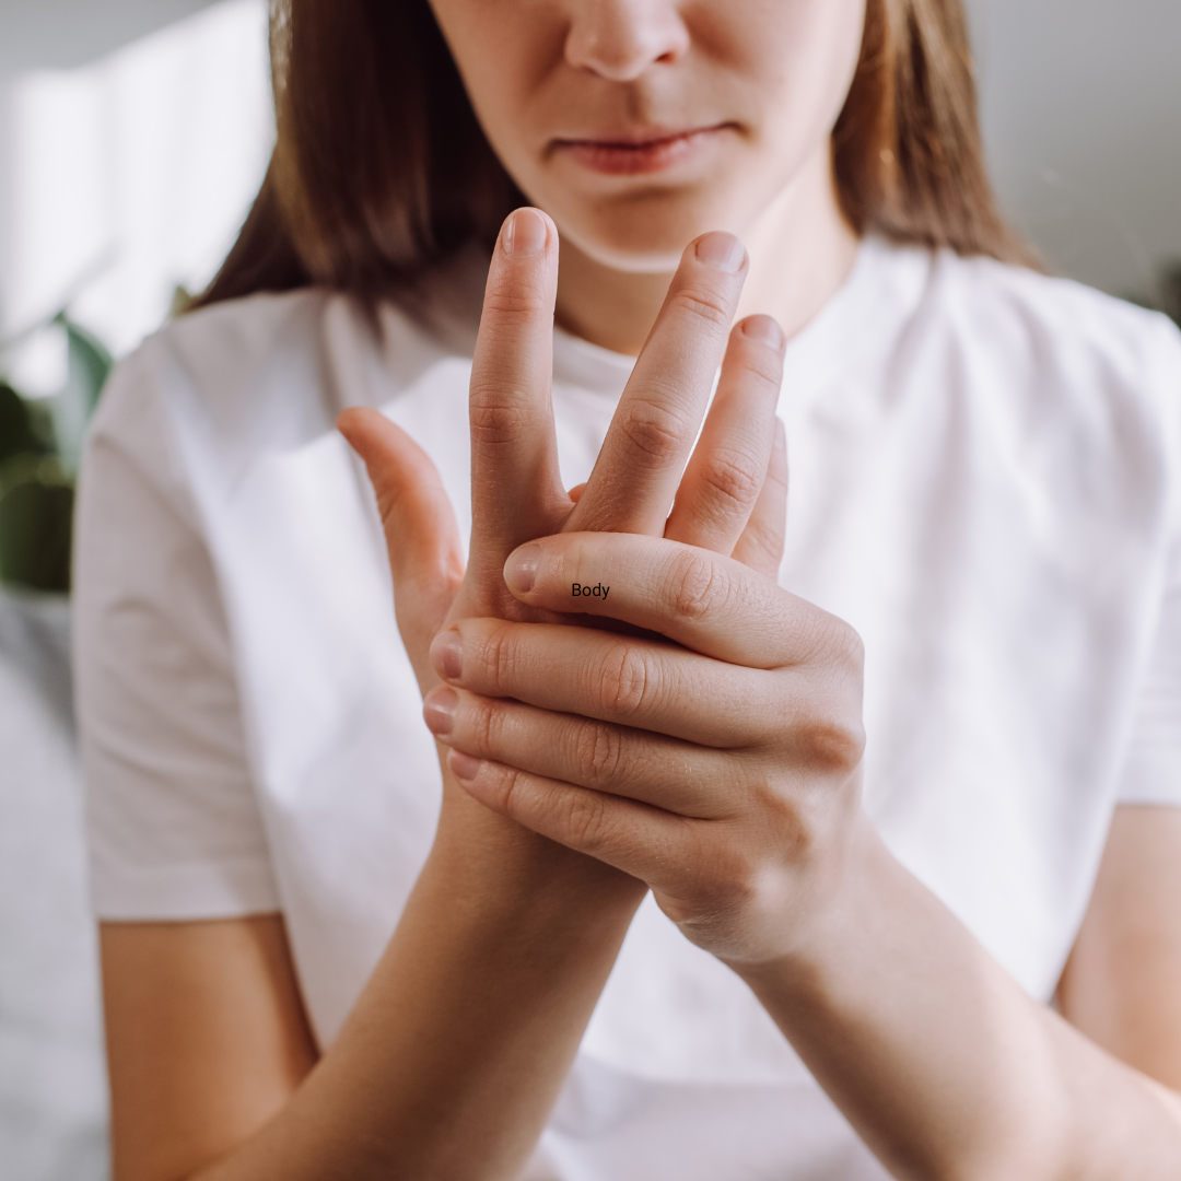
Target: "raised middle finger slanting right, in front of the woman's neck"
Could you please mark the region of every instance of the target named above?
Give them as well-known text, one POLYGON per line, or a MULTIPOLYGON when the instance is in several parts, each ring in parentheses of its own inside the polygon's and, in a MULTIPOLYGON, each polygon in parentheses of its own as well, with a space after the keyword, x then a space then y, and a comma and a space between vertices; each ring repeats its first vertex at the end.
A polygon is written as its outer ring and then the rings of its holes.
POLYGON ((746 269, 732 234, 686 248, 567 528, 664 533, 746 269))

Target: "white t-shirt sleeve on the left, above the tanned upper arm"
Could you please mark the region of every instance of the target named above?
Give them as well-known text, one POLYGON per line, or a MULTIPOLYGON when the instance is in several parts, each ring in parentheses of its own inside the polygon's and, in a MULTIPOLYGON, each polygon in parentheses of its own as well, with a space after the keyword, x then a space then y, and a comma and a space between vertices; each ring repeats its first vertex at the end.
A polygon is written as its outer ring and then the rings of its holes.
POLYGON ((116 371, 79 485, 74 666, 91 887, 106 920, 278 908, 217 579, 149 344, 116 371))

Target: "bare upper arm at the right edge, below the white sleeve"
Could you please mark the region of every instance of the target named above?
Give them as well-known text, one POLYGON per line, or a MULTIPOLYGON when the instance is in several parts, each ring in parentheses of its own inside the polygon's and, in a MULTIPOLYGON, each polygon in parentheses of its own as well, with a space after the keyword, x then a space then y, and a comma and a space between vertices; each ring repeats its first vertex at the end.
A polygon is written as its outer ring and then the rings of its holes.
POLYGON ((1181 808, 1116 809, 1058 1003, 1094 1042, 1181 1090, 1181 808))

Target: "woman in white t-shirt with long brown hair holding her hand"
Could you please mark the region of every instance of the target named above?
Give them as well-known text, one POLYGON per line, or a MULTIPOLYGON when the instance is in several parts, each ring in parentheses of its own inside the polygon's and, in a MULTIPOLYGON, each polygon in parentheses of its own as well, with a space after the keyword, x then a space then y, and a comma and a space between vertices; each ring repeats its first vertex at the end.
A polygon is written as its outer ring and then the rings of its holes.
POLYGON ((1175 1176, 1181 346, 1023 265, 958 4, 275 50, 81 494, 118 1181, 1175 1176))

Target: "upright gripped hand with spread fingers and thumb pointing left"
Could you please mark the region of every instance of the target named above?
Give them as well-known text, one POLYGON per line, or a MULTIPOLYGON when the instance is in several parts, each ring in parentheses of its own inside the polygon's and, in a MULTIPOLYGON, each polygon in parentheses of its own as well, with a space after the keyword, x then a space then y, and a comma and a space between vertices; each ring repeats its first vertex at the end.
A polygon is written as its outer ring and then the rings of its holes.
MULTIPOLYGON (((466 566, 455 513, 425 451, 376 410, 340 416, 377 494, 398 627, 424 696, 439 684, 431 642, 452 621, 562 618, 522 606, 504 585, 505 559, 527 541, 574 530, 640 533, 732 555, 775 576, 787 492, 775 417, 784 338, 764 315, 727 333, 746 272, 745 252, 730 234, 689 244, 590 478, 572 494, 559 474, 550 400, 557 230, 536 209, 509 216, 472 359, 466 566), (717 394, 693 449, 719 363, 717 394)), ((509 823, 483 809, 475 816, 478 805, 443 766, 444 818, 458 809, 479 827, 509 823)))

